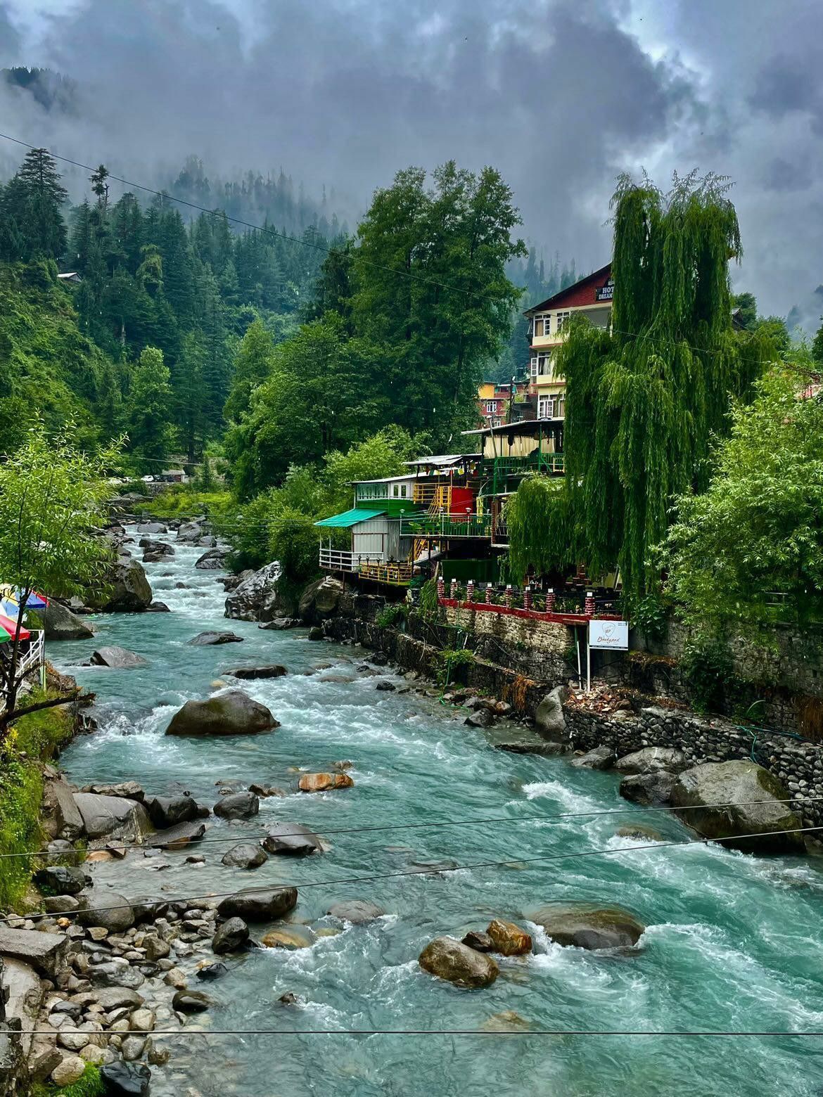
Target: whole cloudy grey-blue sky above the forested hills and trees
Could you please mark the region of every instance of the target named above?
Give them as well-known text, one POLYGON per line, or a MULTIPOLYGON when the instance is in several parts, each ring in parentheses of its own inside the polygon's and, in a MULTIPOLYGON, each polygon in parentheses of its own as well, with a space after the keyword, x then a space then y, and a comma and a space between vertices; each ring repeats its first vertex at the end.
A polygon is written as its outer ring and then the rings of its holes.
POLYGON ((0 65, 84 95, 66 121, 5 94, 3 132, 138 181, 282 165, 351 217, 409 163, 492 163, 578 270, 609 258, 618 172, 726 174, 735 285, 820 323, 820 0, 0 0, 0 65))

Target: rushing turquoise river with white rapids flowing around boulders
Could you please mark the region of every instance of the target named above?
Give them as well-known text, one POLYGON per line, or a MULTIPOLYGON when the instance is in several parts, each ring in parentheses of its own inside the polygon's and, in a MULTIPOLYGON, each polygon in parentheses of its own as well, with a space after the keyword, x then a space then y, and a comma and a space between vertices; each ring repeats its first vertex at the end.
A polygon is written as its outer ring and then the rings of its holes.
POLYGON ((176 545, 173 559, 146 565, 155 597, 170 613, 99 615, 94 641, 49 645, 50 657, 98 699, 99 731, 78 738, 63 755, 63 767, 79 784, 133 779, 151 793, 187 789, 208 803, 217 798, 216 784, 233 780, 289 792, 261 800, 251 823, 212 818, 210 839, 257 837, 274 821, 304 823, 319 834, 351 833, 329 835, 323 856, 272 857, 255 872, 221 864, 230 841, 202 844, 203 868, 185 863, 191 849, 165 855, 169 867, 162 871, 155 870, 156 860, 132 851, 122 862, 95 867, 98 886, 113 884, 135 896, 319 883, 301 892, 296 919, 330 925, 322 921, 329 905, 354 897, 372 900, 387 914, 319 937, 308 949, 261 949, 229 959, 229 974, 207 987, 217 1005, 198 1024, 249 1034, 174 1038, 169 1067, 155 1070, 153 1094, 181 1097, 181 1070, 204 1097, 820 1093, 822 1039, 255 1036, 255 1029, 294 1028, 476 1030, 507 1010, 543 1030, 821 1030, 823 875, 811 859, 695 845, 323 884, 420 862, 617 850, 636 845, 616 836, 632 819, 668 839, 689 832, 665 813, 638 814, 619 799, 615 774, 494 749, 483 732, 464 726, 464 712, 401 692, 408 683, 388 669, 379 675, 398 689, 377 691, 380 677, 357 670, 368 661, 363 649, 309 643, 304 630, 261 631, 226 621, 216 573, 194 570, 201 551, 176 545), (204 629, 230 629, 244 643, 188 646, 204 629), (148 665, 75 666, 102 644, 137 652, 148 665), (164 736, 172 713, 225 682, 226 668, 259 663, 289 669, 282 678, 241 683, 272 710, 280 728, 237 739, 164 736), (339 759, 352 762, 354 788, 323 795, 296 791, 293 767, 318 770, 339 759), (533 818, 609 810, 617 814, 533 818), (409 828, 489 816, 501 822, 409 828), (396 829, 358 830, 379 826, 396 829), (532 926, 535 953, 501 959, 497 982, 472 993, 417 964, 433 937, 462 937, 495 916, 523 921, 529 911, 554 900, 628 907, 647 926, 642 947, 622 955, 560 948, 532 926), (298 1007, 278 1003, 288 992, 301 999, 298 1007))

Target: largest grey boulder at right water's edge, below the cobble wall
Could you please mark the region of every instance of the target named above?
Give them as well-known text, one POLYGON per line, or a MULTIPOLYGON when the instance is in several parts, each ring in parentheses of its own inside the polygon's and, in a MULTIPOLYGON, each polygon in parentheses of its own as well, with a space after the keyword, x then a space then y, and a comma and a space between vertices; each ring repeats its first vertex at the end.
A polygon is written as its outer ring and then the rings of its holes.
POLYGON ((801 853, 802 834, 780 833, 802 826, 788 800, 786 785, 747 758, 687 769, 672 790, 673 805, 685 808, 678 817, 707 838, 734 836, 726 844, 735 849, 801 853))

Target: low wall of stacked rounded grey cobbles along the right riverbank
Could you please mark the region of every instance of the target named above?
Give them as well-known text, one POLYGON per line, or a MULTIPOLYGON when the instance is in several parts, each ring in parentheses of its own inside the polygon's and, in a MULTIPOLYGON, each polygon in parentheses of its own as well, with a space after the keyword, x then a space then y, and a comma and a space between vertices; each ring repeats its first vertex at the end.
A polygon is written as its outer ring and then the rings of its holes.
MULTIPOLYGON (((823 748, 766 732, 741 731, 728 721, 677 709, 650 706, 610 715, 564 706, 571 745, 576 750, 609 746, 618 757, 643 747, 677 747, 695 766, 704 761, 751 758, 779 777, 797 796, 823 798, 823 748)), ((805 826, 823 824, 823 799, 794 810, 805 826)))

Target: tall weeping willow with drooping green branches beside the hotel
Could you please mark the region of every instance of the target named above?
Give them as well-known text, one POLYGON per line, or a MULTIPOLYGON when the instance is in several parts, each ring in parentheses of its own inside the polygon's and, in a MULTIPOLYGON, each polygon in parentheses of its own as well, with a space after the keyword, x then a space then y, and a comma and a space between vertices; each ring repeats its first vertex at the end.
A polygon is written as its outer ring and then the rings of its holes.
MULTIPOLYGON (((551 513, 518 518, 512 564, 561 567, 568 551, 590 575, 620 566, 640 595, 656 585, 649 550, 666 531, 673 497, 700 490, 713 432, 730 397, 746 398, 767 351, 732 329, 729 261, 740 259, 737 216, 719 177, 675 176, 663 193, 622 177, 615 211, 612 329, 572 325, 556 371, 566 378, 565 467, 551 513), (529 527, 552 531, 535 556, 529 527), (532 547, 530 547, 530 545, 532 547)), ((520 514, 535 489, 525 482, 520 514)), ((511 506, 511 505, 510 505, 511 506)))

